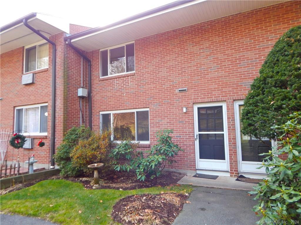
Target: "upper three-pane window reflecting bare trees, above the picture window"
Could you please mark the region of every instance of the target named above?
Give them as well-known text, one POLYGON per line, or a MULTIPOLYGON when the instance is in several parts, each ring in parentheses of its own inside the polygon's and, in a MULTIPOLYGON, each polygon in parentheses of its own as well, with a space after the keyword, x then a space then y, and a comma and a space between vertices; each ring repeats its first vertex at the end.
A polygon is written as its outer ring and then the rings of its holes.
POLYGON ((125 44, 100 51, 101 76, 135 71, 135 44, 125 44))

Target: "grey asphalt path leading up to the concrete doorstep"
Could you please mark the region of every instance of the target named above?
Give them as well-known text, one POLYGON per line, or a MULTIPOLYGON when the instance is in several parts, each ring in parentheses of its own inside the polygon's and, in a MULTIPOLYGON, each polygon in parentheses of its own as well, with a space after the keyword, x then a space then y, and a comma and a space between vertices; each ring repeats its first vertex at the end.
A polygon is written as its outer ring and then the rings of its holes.
MULTIPOLYGON (((198 178, 199 179, 199 178, 198 178)), ((257 201, 244 190, 195 187, 173 225, 254 225, 257 201)))

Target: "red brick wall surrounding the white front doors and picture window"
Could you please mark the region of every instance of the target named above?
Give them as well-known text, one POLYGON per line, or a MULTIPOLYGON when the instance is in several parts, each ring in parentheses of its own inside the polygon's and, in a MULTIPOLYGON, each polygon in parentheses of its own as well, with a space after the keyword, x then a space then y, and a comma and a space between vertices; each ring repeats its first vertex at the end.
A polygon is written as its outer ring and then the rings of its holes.
POLYGON ((135 40, 135 74, 99 79, 99 51, 92 59, 93 127, 99 112, 150 109, 155 132, 174 129, 183 149, 172 168, 195 170, 193 104, 227 104, 230 173, 237 175, 234 100, 249 85, 278 38, 301 23, 301 2, 289 1, 135 40), (188 91, 177 93, 176 89, 188 91), (187 113, 182 108, 187 107, 187 113))

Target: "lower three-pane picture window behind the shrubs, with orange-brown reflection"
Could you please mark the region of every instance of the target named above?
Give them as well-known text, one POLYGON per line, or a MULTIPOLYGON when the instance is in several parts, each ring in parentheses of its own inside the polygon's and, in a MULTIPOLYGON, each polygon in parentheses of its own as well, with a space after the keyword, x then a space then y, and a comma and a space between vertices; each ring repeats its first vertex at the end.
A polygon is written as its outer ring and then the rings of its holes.
POLYGON ((100 113, 101 130, 113 130, 112 140, 149 142, 149 110, 124 110, 100 113))

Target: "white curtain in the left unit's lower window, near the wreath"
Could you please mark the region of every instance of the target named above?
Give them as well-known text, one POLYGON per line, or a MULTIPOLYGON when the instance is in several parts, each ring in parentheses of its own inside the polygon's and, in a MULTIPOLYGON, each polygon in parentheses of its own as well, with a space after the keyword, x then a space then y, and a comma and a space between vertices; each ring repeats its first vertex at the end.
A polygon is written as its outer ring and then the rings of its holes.
POLYGON ((24 132, 39 133, 39 107, 24 109, 24 132))

